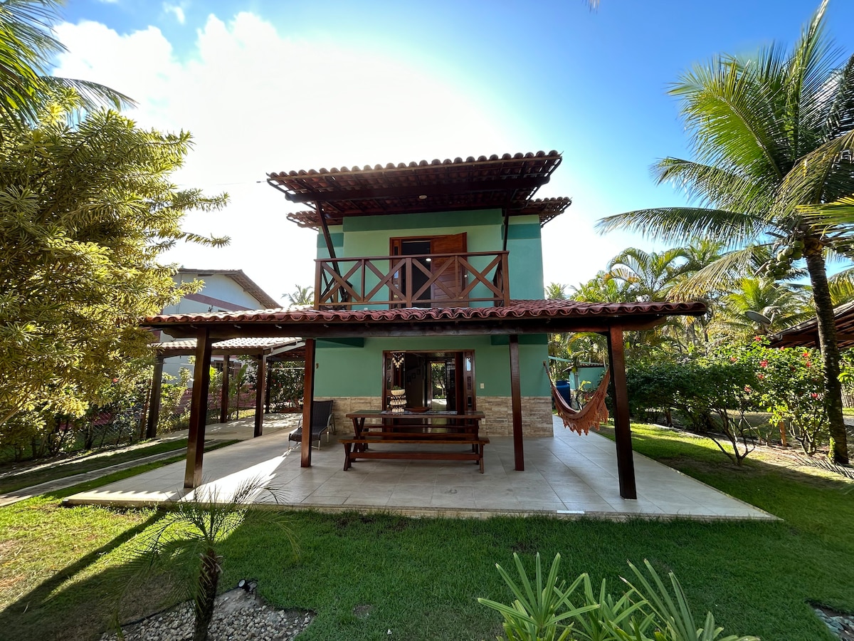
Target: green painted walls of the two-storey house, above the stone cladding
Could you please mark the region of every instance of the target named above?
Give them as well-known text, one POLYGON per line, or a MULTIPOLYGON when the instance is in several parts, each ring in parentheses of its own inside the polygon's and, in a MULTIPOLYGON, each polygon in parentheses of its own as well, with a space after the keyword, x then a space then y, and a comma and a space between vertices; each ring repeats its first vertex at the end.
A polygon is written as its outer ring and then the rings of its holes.
MULTIPOLYGON (((467 249, 500 251, 504 218, 500 209, 434 212, 409 215, 352 216, 343 226, 330 226, 336 256, 388 256, 389 238, 439 236, 466 232, 467 249)), ((540 223, 537 216, 512 216, 507 233, 512 298, 542 298, 543 270, 540 223)), ((318 257, 328 258, 318 235, 318 257)), ((484 265, 486 264, 484 259, 484 265)), ((476 263, 477 265, 477 263, 476 263)), ((342 271, 347 267, 342 265, 342 271)), ((374 282, 377 282, 376 280, 374 282)), ((383 293, 384 295, 384 293, 383 293)), ((477 291, 476 291, 477 295, 477 291)), ((475 303, 477 304, 477 303, 475 303)), ((366 338, 363 347, 318 341, 319 368, 314 393, 318 397, 371 397, 382 393, 383 350, 475 352, 476 397, 509 397, 510 350, 506 336, 430 338, 366 338), (483 385, 483 389, 481 388, 483 385)), ((519 337, 519 367, 523 397, 547 397, 547 337, 519 337)))

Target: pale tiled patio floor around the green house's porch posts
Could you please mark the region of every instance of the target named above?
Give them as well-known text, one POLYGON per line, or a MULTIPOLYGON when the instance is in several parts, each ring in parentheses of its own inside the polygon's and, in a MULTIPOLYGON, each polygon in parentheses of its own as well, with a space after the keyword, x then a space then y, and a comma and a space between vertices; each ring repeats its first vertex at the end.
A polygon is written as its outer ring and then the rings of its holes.
MULTIPOLYGON (((208 428, 216 431, 215 426, 208 428)), ((233 428, 231 428, 233 429, 233 428)), ((340 434, 339 434, 340 435, 340 434)), ((637 500, 619 496, 614 444, 580 437, 555 419, 554 438, 525 438, 524 472, 513 469, 509 436, 489 436, 485 473, 471 462, 367 460, 342 470, 336 436, 313 450, 312 467, 288 451, 288 430, 250 438, 205 455, 200 491, 228 496, 243 479, 264 479, 289 508, 382 510, 407 515, 483 518, 547 514, 600 518, 683 516, 699 519, 775 517, 635 453, 637 500), (284 501, 283 501, 284 499, 284 501)), ((69 497, 69 504, 141 505, 178 500, 184 463, 69 497)), ((271 502, 260 496, 259 502, 271 502)))

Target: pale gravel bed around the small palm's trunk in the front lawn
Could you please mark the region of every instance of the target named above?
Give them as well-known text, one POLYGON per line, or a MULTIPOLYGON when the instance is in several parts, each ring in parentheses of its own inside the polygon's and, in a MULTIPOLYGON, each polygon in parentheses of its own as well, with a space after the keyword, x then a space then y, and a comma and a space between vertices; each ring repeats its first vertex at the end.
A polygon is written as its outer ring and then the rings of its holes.
MULTIPOLYGON (((253 593, 234 589, 219 595, 208 627, 209 641, 258 639, 290 641, 305 630, 314 614, 303 610, 273 608, 253 593)), ((185 641, 193 638, 195 616, 191 603, 149 616, 121 627, 126 641, 185 641)), ((101 641, 116 641, 114 633, 101 641)))

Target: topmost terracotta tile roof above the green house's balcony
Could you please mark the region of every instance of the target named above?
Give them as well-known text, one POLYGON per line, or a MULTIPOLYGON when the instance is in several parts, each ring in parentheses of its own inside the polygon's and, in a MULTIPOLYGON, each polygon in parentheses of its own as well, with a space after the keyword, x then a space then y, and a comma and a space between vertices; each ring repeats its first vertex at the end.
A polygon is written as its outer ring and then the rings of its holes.
POLYGON ((558 168, 557 151, 465 160, 389 163, 364 168, 321 168, 267 174, 267 182, 291 203, 314 210, 288 215, 297 225, 341 225, 348 216, 415 214, 459 209, 506 209, 508 215, 537 215, 545 225, 570 206, 570 198, 534 199, 558 168))

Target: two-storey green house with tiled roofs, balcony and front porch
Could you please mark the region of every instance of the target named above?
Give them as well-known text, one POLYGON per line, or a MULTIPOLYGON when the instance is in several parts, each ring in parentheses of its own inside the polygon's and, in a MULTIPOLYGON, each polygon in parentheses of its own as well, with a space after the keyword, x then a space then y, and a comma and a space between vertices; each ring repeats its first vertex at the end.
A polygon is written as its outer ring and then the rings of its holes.
MULTIPOLYGON (((290 220, 318 231, 314 309, 143 321, 196 338, 184 485, 202 481, 215 342, 301 337, 305 395, 335 398, 339 415, 385 409, 395 387, 413 408, 477 408, 490 434, 512 434, 515 469, 524 470, 524 438, 552 434, 547 334, 598 332, 608 343, 620 494, 635 498, 623 332, 701 315, 705 304, 543 300, 541 230, 570 200, 535 194, 560 162, 539 151, 269 173, 288 201, 310 208, 290 220)), ((303 423, 312 424, 312 403, 303 423)), ((301 466, 311 466, 308 439, 301 466)))

